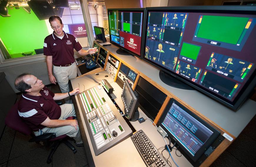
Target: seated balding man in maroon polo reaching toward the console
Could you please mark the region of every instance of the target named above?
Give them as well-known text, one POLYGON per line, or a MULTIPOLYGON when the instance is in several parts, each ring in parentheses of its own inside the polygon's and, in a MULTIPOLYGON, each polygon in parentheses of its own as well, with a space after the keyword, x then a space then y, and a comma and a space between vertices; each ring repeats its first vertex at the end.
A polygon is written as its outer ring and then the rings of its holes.
POLYGON ((35 136, 43 133, 66 134, 74 138, 76 146, 84 146, 77 120, 65 120, 76 116, 74 105, 59 106, 54 101, 79 93, 79 88, 68 93, 53 93, 30 74, 19 75, 15 88, 22 92, 18 104, 19 116, 33 129, 35 136))

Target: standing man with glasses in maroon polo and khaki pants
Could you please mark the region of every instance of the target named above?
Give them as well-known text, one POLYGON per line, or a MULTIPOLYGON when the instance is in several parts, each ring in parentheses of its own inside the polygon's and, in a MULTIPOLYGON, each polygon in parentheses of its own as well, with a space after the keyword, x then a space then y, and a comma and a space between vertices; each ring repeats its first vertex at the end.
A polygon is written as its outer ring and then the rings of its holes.
MULTIPOLYGON (((49 22, 54 30, 44 39, 44 55, 46 56, 49 80, 52 84, 58 82, 61 92, 67 93, 69 91, 68 80, 77 77, 74 49, 82 56, 94 54, 98 49, 83 50, 73 35, 62 30, 63 23, 59 16, 51 16, 49 22)), ((65 99, 65 102, 70 103, 69 98, 65 99)))

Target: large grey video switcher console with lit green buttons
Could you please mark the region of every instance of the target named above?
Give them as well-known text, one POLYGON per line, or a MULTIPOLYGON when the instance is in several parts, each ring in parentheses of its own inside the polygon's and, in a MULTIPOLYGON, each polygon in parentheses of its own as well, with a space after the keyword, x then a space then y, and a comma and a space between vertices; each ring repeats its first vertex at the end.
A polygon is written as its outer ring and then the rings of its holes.
POLYGON ((78 95, 95 155, 132 136, 132 130, 111 101, 102 85, 78 95))

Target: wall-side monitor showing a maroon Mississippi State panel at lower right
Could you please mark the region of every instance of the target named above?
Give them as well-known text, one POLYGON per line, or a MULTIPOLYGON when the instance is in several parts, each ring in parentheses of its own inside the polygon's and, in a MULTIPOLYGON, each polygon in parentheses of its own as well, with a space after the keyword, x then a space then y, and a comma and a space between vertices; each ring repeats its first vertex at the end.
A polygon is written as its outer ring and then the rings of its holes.
POLYGON ((110 43, 118 54, 141 58, 145 8, 108 9, 110 43))

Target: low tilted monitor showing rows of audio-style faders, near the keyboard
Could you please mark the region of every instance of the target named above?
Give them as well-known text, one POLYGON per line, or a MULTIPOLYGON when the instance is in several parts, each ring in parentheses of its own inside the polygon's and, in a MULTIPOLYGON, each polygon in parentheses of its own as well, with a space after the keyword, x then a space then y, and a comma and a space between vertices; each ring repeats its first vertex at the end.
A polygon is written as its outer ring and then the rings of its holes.
POLYGON ((214 127, 173 98, 165 108, 158 125, 172 138, 173 142, 177 143, 184 156, 194 162, 220 135, 214 127))

